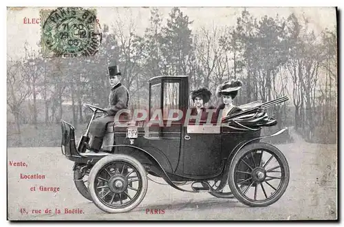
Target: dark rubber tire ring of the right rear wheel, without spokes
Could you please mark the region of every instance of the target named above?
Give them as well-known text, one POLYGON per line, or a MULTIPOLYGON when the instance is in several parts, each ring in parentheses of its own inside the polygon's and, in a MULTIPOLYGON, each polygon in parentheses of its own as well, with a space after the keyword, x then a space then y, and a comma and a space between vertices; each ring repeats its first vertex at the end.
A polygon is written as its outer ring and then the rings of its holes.
POLYGON ((245 204, 246 206, 252 206, 252 207, 270 206, 271 204, 274 204, 275 202, 277 202, 277 200, 279 200, 282 197, 283 193, 286 191, 289 184, 289 177, 290 177, 289 165, 283 153, 279 151, 277 147, 274 147, 271 144, 266 144, 264 142, 257 142, 257 143, 248 144, 246 147, 242 148, 241 150, 239 150, 238 153, 235 154, 235 156, 233 157, 233 161, 230 164, 228 183, 229 183, 230 191, 233 193, 233 195, 239 200, 239 202, 245 204), (285 181, 283 182, 283 185, 281 186, 281 188, 279 188, 279 192, 277 193, 277 195, 274 195, 273 199, 269 199, 266 202, 251 202, 250 200, 246 199, 244 196, 241 195, 241 193, 239 193, 236 187, 236 183, 234 182, 235 166, 237 166, 240 158, 244 157, 246 153, 254 149, 264 149, 264 150, 272 151, 272 153, 274 153, 274 155, 276 155, 279 158, 282 164, 281 168, 284 169, 285 181))

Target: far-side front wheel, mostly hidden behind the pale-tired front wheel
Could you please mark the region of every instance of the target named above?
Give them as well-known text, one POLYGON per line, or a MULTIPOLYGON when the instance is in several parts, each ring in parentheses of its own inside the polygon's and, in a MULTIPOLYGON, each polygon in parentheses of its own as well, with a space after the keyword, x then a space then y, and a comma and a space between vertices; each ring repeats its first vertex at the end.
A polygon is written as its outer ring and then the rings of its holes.
POLYGON ((89 169, 82 169, 82 165, 77 165, 76 169, 74 170, 74 184, 78 192, 83 195, 86 199, 92 201, 91 195, 89 195, 88 188, 87 188, 87 180, 89 176, 89 169))

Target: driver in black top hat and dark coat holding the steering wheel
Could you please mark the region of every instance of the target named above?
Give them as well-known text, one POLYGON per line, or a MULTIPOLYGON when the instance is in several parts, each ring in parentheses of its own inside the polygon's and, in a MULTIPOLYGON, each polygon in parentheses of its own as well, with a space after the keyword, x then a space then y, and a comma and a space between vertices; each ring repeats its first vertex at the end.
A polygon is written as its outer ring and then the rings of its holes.
POLYGON ((94 152, 100 151, 103 144, 103 137, 107 129, 107 123, 114 122, 114 116, 120 109, 127 109, 129 102, 129 91, 127 87, 120 83, 122 73, 118 69, 118 65, 108 67, 109 81, 111 90, 109 94, 109 108, 105 109, 106 114, 92 121, 89 126, 89 133, 92 134, 92 142, 90 150, 94 152))

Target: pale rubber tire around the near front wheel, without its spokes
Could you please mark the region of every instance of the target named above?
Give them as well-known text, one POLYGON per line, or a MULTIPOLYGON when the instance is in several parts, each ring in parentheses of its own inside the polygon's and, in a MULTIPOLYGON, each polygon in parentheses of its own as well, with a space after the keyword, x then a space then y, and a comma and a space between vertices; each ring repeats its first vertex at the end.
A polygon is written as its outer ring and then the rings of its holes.
POLYGON ((136 208, 140 202, 142 202, 142 199, 144 199, 144 196, 147 193, 147 188, 148 188, 148 178, 147 178, 147 173, 146 170, 144 169, 144 166, 138 160, 135 158, 132 158, 129 155, 122 155, 122 154, 116 154, 116 155, 107 155, 104 158, 100 159, 96 164, 94 164, 91 173, 89 173, 89 180, 87 181, 88 183, 88 189, 89 193, 92 197, 92 200, 100 210, 103 210, 107 213, 125 213, 128 212, 129 210, 132 210, 133 208, 136 208), (138 171, 138 174, 140 174, 141 177, 141 184, 142 184, 142 190, 138 198, 136 199, 135 202, 130 204, 127 207, 124 208, 110 208, 109 206, 106 206, 100 200, 98 199, 96 195, 96 190, 95 190, 95 180, 96 180, 96 175, 97 173, 107 164, 110 162, 127 162, 136 168, 138 171))

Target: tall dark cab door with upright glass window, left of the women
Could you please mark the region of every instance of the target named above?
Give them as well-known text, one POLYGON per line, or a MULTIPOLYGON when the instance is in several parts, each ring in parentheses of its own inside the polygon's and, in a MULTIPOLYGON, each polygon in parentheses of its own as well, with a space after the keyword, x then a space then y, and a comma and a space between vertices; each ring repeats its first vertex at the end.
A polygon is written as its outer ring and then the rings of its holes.
POLYGON ((149 119, 152 125, 149 129, 146 128, 145 138, 169 162, 169 173, 174 173, 180 162, 182 120, 171 119, 173 115, 170 113, 180 109, 181 86, 180 78, 164 77, 151 83, 149 94, 149 119))

